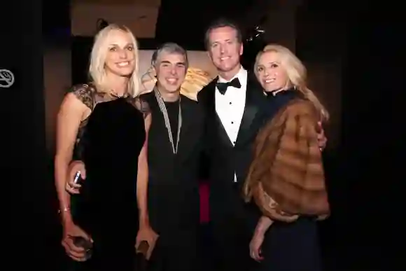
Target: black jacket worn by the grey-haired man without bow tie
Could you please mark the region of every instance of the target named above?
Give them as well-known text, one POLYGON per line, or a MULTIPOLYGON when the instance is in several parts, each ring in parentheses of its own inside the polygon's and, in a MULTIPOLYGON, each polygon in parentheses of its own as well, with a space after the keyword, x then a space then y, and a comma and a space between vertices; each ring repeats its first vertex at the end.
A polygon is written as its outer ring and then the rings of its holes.
MULTIPOLYGON (((199 223, 199 166, 204 112, 181 95, 182 127, 176 155, 154 92, 141 95, 148 102, 152 123, 148 133, 148 209, 154 229, 174 231, 199 223)), ((176 142, 176 139, 174 139, 176 142)))

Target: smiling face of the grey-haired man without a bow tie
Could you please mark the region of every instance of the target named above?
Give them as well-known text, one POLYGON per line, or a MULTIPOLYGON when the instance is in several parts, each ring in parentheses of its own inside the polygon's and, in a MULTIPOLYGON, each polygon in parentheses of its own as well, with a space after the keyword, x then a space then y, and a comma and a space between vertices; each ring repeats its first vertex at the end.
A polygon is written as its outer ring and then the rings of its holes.
POLYGON ((167 93, 179 92, 185 80, 186 57, 179 53, 168 53, 163 50, 155 63, 155 73, 160 91, 167 93))

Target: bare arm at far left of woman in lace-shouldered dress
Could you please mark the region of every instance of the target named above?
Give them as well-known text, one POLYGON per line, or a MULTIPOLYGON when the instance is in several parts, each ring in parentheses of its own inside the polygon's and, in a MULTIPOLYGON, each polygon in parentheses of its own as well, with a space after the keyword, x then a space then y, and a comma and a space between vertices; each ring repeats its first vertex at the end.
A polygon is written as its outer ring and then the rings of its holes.
POLYGON ((72 219, 69 209, 71 198, 65 190, 66 176, 69 162, 72 160, 80 121, 83 120, 84 114, 89 110, 73 93, 69 93, 64 97, 57 115, 54 165, 55 186, 62 214, 62 223, 71 223, 72 219))

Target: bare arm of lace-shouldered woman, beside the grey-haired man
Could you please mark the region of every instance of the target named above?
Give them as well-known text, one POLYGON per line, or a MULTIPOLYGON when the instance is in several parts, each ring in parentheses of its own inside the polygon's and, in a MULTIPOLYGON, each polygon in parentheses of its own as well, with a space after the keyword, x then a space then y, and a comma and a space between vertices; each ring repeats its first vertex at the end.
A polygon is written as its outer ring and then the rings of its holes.
POLYGON ((149 225, 148 216, 148 132, 151 126, 151 113, 145 118, 146 139, 139 153, 137 175, 137 202, 139 208, 139 227, 149 225))

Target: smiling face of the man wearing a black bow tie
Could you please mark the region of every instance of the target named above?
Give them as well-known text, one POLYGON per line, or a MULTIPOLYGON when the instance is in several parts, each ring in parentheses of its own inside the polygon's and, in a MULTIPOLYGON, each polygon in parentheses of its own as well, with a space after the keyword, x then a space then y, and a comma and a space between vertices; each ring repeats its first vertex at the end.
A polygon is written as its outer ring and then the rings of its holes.
POLYGON ((209 56, 218 71, 228 73, 238 71, 239 58, 243 47, 237 37, 237 30, 232 27, 218 27, 209 33, 209 56))

